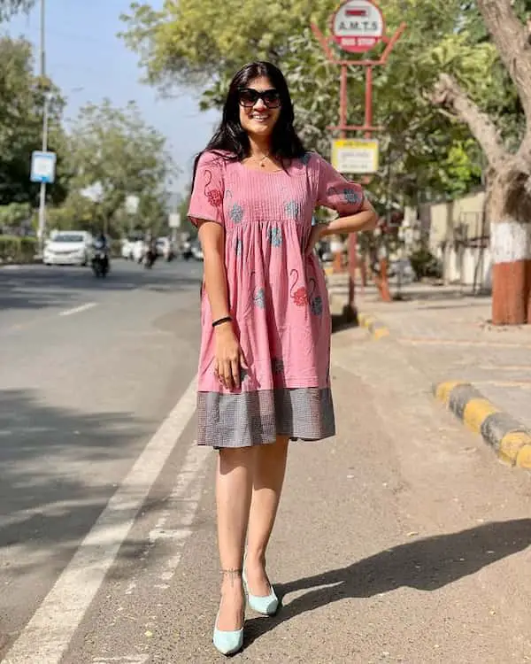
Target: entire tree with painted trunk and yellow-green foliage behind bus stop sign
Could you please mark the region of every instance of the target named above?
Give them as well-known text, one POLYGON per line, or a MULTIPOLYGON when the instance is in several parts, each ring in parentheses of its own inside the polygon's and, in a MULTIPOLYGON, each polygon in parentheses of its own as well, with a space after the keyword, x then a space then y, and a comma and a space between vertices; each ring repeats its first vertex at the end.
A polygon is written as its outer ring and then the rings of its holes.
MULTIPOLYGON (((194 0, 166 2, 159 11, 133 4, 124 17, 125 38, 140 54, 147 81, 163 90, 174 82, 202 87, 203 107, 222 103, 227 81, 242 62, 268 58, 279 64, 289 79, 306 143, 327 154, 327 126, 337 124, 338 72, 327 65, 308 26, 314 19, 324 28, 335 0, 267 6, 271 11, 263 13, 258 0, 227 0, 224 12, 215 0, 204 0, 200 7, 194 0)), ((531 2, 388 0, 382 8, 389 32, 403 20, 407 32, 388 65, 374 75, 374 123, 384 133, 381 174, 370 188, 385 205, 389 198, 395 203, 455 197, 480 183, 486 158, 489 219, 514 229, 493 225, 493 320, 531 320, 531 305, 525 313, 525 261, 517 267, 520 281, 511 294, 502 295, 510 287, 500 276, 505 268, 499 265, 506 261, 500 261, 498 249, 503 243, 516 246, 520 237, 520 249, 509 254, 531 258, 523 250, 529 227, 521 223, 528 216, 531 135, 525 118, 531 117, 531 46, 517 15, 528 17, 531 2), (509 235, 513 239, 505 240, 509 235)), ((355 69, 350 72, 350 121, 363 117, 363 80, 355 69)))

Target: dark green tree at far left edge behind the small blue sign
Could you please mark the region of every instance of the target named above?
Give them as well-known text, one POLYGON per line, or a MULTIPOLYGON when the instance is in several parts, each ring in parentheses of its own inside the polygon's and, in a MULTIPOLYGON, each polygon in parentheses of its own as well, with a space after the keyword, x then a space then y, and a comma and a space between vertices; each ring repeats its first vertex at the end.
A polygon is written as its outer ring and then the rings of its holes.
POLYGON ((0 38, 0 205, 36 205, 38 187, 29 180, 32 151, 42 145, 42 112, 49 107, 49 147, 58 152, 58 178, 48 188, 52 202, 65 197, 61 154, 64 101, 49 79, 33 73, 32 46, 24 39, 0 38))

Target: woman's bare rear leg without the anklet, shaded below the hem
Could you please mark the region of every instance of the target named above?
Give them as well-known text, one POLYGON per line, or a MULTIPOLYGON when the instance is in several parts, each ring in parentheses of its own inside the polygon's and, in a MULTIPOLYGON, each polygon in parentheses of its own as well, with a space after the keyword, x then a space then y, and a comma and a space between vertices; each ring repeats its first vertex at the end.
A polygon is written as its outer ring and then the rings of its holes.
POLYGON ((258 446, 254 459, 245 571, 250 592, 263 597, 270 592, 266 548, 281 499, 288 445, 287 437, 279 437, 274 444, 258 446))

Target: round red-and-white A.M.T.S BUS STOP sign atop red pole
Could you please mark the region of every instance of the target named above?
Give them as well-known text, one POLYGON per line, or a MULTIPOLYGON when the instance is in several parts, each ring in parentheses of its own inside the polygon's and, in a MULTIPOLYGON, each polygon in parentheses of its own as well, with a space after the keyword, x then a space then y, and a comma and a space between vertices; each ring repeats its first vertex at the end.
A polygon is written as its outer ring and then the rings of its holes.
POLYGON ((365 53, 381 41, 385 21, 371 0, 346 0, 332 16, 330 30, 342 50, 365 53))

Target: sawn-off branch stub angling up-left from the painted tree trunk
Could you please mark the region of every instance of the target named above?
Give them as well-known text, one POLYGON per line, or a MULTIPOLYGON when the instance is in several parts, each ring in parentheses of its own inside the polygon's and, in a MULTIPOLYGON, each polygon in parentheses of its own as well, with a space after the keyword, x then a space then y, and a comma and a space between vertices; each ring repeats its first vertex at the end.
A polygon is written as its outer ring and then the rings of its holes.
POLYGON ((468 125, 489 160, 489 165, 497 170, 509 155, 504 149, 495 124, 468 97, 458 81, 447 73, 439 74, 439 80, 429 98, 432 104, 446 107, 453 113, 454 118, 468 125))

